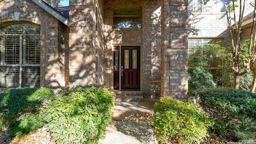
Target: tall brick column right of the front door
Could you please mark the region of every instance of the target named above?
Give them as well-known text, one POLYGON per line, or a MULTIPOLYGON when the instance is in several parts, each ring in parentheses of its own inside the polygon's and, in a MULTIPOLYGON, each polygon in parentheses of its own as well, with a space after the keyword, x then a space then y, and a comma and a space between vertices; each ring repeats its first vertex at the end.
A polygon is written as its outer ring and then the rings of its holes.
POLYGON ((162 2, 161 96, 186 99, 188 0, 163 0, 162 2))

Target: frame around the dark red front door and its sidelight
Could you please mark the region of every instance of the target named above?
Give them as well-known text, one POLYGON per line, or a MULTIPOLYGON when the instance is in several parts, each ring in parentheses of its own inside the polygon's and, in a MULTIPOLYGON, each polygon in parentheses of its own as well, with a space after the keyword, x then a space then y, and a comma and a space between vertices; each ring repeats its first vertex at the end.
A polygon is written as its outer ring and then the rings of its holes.
MULTIPOLYGON (((119 64, 119 91, 121 91, 121 49, 122 46, 139 46, 140 47, 140 89, 139 91, 142 90, 142 45, 141 44, 112 44, 112 58, 114 59, 114 46, 119 46, 119 60, 118 60, 118 64, 119 64)), ((112 59, 112 89, 114 90, 114 60, 112 59)), ((128 91, 138 91, 138 90, 128 90, 128 91)))

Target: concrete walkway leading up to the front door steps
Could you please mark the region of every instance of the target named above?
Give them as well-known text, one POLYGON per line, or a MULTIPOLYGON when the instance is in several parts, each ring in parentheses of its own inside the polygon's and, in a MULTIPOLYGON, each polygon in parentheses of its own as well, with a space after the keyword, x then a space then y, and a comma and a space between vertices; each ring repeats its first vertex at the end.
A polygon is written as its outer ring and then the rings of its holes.
POLYGON ((148 120, 153 115, 154 103, 159 99, 144 98, 138 106, 116 105, 106 137, 98 144, 157 144, 148 120))

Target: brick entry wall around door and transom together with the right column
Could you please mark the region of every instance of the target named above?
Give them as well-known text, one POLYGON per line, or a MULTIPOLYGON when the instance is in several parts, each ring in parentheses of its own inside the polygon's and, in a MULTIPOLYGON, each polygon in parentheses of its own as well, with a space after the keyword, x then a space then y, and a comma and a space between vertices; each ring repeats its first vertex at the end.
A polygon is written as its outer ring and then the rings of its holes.
POLYGON ((112 48, 114 45, 141 46, 142 81, 145 96, 186 98, 187 79, 187 4, 186 0, 105 0, 104 83, 112 86, 112 48), (142 28, 113 29, 112 10, 122 6, 142 9, 142 28))

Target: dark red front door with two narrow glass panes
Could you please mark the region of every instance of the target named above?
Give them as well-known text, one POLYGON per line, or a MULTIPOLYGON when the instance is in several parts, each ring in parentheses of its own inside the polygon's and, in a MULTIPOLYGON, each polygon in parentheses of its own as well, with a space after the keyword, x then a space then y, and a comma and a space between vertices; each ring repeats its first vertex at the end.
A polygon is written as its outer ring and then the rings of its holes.
POLYGON ((121 48, 121 90, 140 90, 140 46, 121 48))

